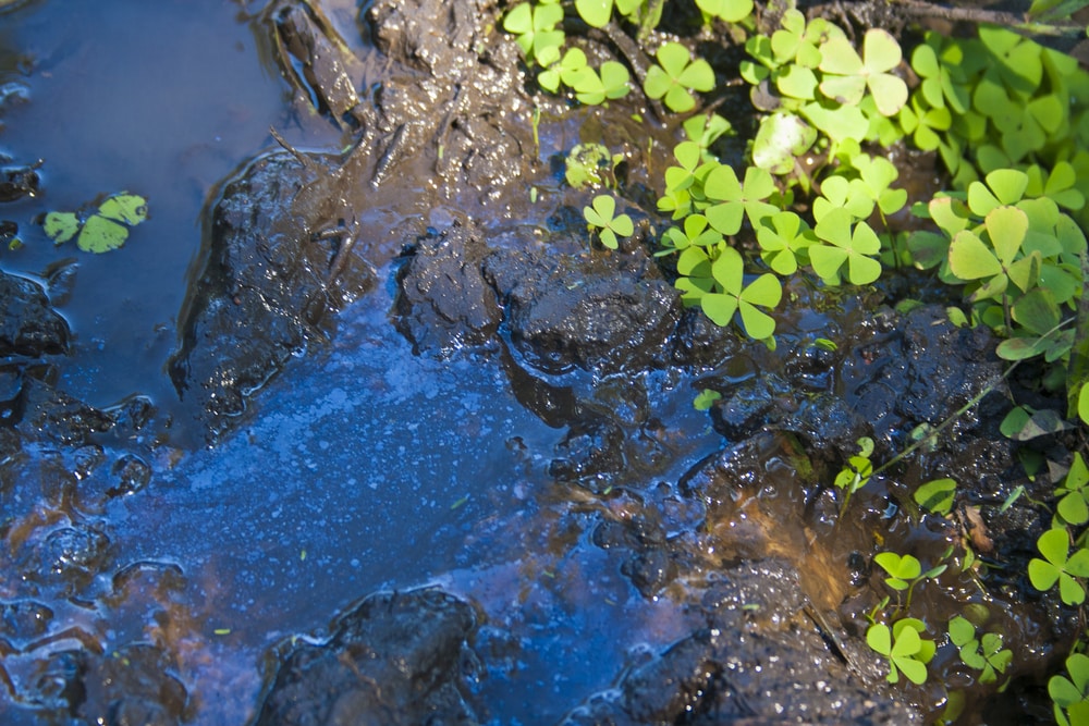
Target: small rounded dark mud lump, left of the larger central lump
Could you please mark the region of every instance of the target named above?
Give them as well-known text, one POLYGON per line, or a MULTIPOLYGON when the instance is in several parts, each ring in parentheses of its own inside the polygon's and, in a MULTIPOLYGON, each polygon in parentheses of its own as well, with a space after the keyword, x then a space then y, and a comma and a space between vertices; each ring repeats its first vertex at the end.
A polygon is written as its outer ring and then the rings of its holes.
POLYGON ((495 293, 481 274, 488 249, 479 232, 461 223, 419 239, 397 272, 397 330, 415 349, 478 345, 501 318, 495 293))

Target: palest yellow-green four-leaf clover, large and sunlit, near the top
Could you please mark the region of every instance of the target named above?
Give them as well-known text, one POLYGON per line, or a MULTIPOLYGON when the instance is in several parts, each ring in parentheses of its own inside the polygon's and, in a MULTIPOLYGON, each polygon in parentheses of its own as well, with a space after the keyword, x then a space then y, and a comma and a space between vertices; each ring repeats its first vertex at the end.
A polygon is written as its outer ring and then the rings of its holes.
POLYGON ((844 38, 831 38, 820 47, 824 73, 820 90, 846 106, 862 100, 869 88, 878 111, 891 116, 907 102, 907 84, 889 71, 900 65, 900 44, 886 30, 870 28, 862 38, 862 57, 844 38))

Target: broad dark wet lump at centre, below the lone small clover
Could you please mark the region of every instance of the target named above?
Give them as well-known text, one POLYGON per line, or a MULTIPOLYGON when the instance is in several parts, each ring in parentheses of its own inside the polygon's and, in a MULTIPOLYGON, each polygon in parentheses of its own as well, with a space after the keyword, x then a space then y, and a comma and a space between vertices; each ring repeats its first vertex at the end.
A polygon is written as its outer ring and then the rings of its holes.
POLYGON ((499 253, 485 275, 507 308, 514 344, 546 373, 664 365, 681 303, 644 253, 543 256, 499 253))

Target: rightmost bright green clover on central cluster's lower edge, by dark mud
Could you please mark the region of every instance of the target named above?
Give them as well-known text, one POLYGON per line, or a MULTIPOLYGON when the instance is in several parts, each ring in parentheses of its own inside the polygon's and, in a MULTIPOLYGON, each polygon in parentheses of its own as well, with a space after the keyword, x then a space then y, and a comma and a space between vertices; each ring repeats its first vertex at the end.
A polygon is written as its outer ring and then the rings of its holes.
POLYGON ((881 251, 881 241, 866 222, 855 224, 852 232, 853 222, 846 209, 833 209, 813 227, 813 233, 828 244, 809 247, 809 259, 827 284, 840 284, 844 263, 853 285, 868 285, 881 276, 881 262, 873 259, 881 251))

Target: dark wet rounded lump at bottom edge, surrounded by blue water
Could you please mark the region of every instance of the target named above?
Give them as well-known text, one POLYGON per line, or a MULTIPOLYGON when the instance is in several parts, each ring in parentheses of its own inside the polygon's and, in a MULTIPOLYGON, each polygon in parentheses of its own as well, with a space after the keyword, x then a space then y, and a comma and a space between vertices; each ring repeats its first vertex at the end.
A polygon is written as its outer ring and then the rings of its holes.
POLYGON ((439 590, 382 593, 280 665, 258 725, 475 724, 460 690, 476 616, 439 590))

